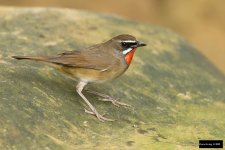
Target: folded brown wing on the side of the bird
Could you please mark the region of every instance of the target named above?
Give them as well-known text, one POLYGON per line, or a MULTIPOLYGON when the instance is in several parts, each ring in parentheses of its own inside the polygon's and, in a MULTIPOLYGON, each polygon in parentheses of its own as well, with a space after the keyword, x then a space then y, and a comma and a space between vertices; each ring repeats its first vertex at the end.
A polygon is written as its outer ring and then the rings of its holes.
POLYGON ((63 66, 90 68, 96 70, 105 70, 113 62, 111 52, 106 53, 107 48, 98 44, 86 49, 68 51, 57 56, 49 57, 48 61, 63 66))

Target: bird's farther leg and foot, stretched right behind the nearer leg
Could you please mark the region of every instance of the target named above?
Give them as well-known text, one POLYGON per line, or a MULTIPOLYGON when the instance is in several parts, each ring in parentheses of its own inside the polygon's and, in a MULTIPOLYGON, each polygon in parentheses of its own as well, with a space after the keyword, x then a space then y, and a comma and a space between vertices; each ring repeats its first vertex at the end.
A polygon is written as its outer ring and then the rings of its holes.
POLYGON ((128 106, 128 107, 131 107, 131 105, 129 104, 126 104, 126 103, 123 103, 123 102, 119 102, 118 99, 114 99, 106 94, 102 94, 102 93, 99 93, 99 92, 96 92, 96 91, 92 91, 92 90, 88 90, 88 89, 85 89, 88 93, 92 93, 92 94, 95 94, 99 97, 102 97, 100 98, 99 100, 101 101, 108 101, 108 102, 111 102, 113 105, 117 106, 117 107, 120 107, 120 106, 128 106))

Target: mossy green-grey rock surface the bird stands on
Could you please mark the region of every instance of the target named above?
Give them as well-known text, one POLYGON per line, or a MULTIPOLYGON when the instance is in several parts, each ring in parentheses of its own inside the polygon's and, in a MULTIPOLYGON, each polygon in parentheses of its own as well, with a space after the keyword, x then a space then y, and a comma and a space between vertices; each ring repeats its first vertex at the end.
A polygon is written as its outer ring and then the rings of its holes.
POLYGON ((198 149, 225 140, 225 78, 172 31, 120 17, 49 8, 0 8, 0 149, 198 149), (44 63, 12 55, 54 55, 129 33, 146 42, 128 71, 90 88, 119 97, 117 108, 85 93, 44 63))

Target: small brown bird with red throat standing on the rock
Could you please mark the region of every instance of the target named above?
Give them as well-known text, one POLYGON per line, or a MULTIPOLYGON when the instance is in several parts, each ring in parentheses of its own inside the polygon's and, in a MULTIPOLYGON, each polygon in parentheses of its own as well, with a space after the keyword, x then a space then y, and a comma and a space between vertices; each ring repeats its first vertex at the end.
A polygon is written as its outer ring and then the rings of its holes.
MULTIPOLYGON (((66 51, 56 56, 12 56, 15 59, 29 59, 55 64, 57 69, 78 80, 77 93, 83 98, 90 110, 85 112, 95 115, 101 121, 113 121, 100 115, 95 107, 83 95, 83 88, 91 82, 105 82, 123 74, 129 67, 137 47, 146 44, 137 41, 134 36, 128 34, 118 35, 109 41, 96 44, 87 48, 66 51)), ((110 96, 95 91, 89 91, 110 101, 114 105, 129 106, 119 102, 110 96)))

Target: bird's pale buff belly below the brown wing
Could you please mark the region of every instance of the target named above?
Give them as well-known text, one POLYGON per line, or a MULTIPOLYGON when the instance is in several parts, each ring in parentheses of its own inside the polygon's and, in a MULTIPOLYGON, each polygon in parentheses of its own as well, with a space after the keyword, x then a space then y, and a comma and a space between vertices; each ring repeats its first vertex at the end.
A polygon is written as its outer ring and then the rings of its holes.
POLYGON ((116 69, 96 70, 76 67, 61 67, 59 70, 77 80, 87 82, 105 82, 120 76, 126 68, 119 67, 116 69))

